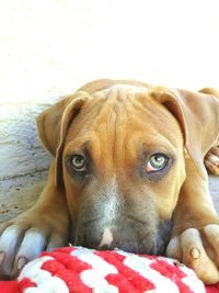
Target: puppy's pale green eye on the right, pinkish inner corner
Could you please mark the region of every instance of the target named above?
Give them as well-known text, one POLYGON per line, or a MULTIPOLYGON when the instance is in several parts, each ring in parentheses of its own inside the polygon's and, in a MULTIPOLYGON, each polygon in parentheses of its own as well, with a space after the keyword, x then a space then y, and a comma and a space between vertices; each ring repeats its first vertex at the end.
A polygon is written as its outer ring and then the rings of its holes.
POLYGON ((169 161, 169 158, 165 155, 154 154, 149 158, 147 162, 146 171, 148 173, 161 171, 162 169, 165 168, 168 161, 169 161))

